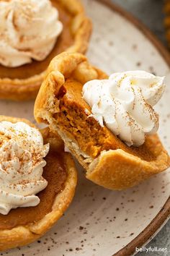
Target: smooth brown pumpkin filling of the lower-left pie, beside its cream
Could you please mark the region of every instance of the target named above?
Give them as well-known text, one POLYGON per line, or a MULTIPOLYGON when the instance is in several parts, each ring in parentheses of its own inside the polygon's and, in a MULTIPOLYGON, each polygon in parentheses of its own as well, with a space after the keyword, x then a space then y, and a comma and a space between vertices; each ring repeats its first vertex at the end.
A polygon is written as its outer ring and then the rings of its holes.
POLYGON ((50 213, 55 197, 64 189, 67 178, 66 168, 61 161, 62 158, 62 154, 59 155, 50 150, 45 158, 47 165, 43 171, 43 177, 48 181, 48 187, 37 194, 40 198, 40 204, 35 207, 11 210, 7 216, 0 214, 0 230, 35 223, 50 213))

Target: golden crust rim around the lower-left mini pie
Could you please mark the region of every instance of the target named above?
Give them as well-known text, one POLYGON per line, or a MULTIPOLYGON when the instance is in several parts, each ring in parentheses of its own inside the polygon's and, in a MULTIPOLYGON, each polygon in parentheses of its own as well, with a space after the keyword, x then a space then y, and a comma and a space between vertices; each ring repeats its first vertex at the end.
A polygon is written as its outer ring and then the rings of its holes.
MULTIPOLYGON (((11 121, 12 123, 24 121, 31 127, 35 127, 34 124, 26 119, 18 119, 9 116, 0 116, 0 121, 11 121)), ((45 141, 50 142, 50 146, 55 147, 57 150, 63 150, 63 142, 60 137, 53 137, 48 128, 42 129, 41 132, 45 141)), ((0 251, 13 247, 21 247, 34 242, 40 238, 40 236, 45 234, 53 224, 61 218, 68 208, 75 192, 77 174, 73 159, 69 153, 64 155, 63 161, 66 164, 68 176, 65 188, 56 196, 55 201, 53 202, 52 211, 36 223, 30 223, 27 226, 17 226, 14 229, 0 230, 0 251)))

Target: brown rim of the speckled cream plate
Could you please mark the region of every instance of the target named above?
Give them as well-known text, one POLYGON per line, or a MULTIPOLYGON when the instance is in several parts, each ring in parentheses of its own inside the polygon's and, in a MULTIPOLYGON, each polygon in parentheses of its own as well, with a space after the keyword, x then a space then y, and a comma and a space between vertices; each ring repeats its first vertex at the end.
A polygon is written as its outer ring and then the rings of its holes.
MULTIPOLYGON (((112 10, 112 12, 117 12, 120 16, 124 17, 130 23, 132 23, 138 30, 140 30, 143 35, 151 41, 153 46, 158 50, 159 54, 163 57, 166 64, 170 67, 170 54, 166 47, 161 43, 161 41, 154 35, 151 30, 149 30, 143 22, 140 22, 138 18, 134 17, 133 14, 126 11, 122 7, 113 3, 112 0, 94 0, 98 1, 101 4, 104 4, 106 7, 112 10)), ((135 237, 130 243, 128 243, 125 247, 116 252, 113 256, 129 256, 135 254, 135 247, 141 248, 143 244, 147 244, 151 241, 156 231, 161 229, 164 226, 164 223, 168 221, 170 218, 170 197, 166 200, 164 206, 158 212, 155 218, 151 221, 151 223, 146 226, 143 231, 140 232, 138 236, 135 237)))

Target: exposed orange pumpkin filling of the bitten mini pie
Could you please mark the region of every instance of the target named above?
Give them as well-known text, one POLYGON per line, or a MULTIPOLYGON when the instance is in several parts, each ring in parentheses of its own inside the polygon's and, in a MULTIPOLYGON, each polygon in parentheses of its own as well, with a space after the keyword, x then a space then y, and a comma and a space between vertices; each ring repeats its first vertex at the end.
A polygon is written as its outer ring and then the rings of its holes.
POLYGON ((149 151, 149 136, 140 147, 128 147, 107 127, 101 127, 93 117, 89 117, 91 108, 81 97, 82 87, 80 82, 66 80, 63 85, 66 94, 60 101, 60 112, 54 115, 61 129, 73 135, 80 149, 91 158, 97 158, 103 150, 121 148, 143 160, 153 161, 156 155, 149 151))

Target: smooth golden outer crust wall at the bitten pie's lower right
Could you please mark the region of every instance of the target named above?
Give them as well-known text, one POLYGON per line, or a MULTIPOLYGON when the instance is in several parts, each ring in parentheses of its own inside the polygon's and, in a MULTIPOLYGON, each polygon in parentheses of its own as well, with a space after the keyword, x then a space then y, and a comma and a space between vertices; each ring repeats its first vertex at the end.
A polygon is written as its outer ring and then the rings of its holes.
MULTIPOLYGON (((159 140, 157 135, 153 137, 159 140)), ((122 190, 134 187, 169 167, 169 155, 161 145, 160 150, 161 154, 151 162, 143 161, 123 150, 103 152, 97 162, 89 166, 86 178, 107 189, 122 190)))

